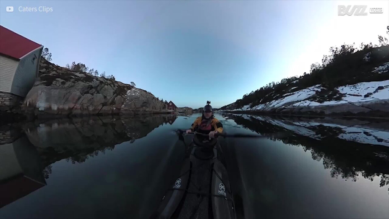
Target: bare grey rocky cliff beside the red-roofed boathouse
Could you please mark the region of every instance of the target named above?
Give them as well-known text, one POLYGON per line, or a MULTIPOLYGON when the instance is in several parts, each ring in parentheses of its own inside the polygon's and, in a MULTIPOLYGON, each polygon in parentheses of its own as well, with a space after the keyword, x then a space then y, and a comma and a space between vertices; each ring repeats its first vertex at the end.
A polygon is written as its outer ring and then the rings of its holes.
POLYGON ((163 103, 145 90, 74 72, 43 58, 39 79, 22 106, 26 113, 38 116, 154 113, 163 108, 163 103))

